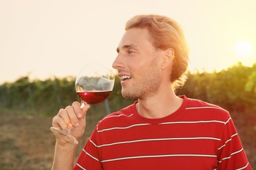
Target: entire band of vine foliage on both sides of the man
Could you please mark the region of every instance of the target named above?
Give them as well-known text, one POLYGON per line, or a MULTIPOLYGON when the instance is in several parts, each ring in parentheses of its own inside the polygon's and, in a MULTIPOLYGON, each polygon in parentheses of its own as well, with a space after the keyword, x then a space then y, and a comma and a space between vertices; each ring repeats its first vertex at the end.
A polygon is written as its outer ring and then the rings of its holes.
MULTIPOLYGON (((230 111, 255 109, 256 63, 253 67, 237 63, 220 72, 190 73, 188 77, 188 82, 178 90, 178 95, 201 99, 230 111)), ((58 109, 79 101, 74 84, 75 77, 31 81, 24 76, 16 82, 6 82, 0 86, 0 107, 24 110, 29 114, 56 114, 58 109)), ((122 109, 134 101, 122 97, 120 80, 116 75, 114 90, 108 99, 111 111, 122 109)))

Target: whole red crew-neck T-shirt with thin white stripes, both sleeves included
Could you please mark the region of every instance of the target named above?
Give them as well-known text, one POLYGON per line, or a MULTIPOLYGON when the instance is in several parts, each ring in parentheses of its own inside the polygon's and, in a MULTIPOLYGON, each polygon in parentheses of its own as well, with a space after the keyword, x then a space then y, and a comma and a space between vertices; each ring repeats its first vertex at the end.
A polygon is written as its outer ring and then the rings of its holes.
POLYGON ((164 118, 140 116, 137 102, 103 118, 74 169, 251 169, 230 114, 181 97, 164 118))

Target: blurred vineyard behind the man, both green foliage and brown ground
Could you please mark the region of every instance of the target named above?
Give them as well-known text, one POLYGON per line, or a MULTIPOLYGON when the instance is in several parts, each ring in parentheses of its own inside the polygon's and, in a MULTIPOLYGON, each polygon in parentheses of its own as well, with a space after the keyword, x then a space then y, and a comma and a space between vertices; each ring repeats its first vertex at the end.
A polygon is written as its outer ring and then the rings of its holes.
MULTIPOLYGON (((201 99, 228 110, 244 149, 256 169, 256 63, 245 67, 237 63, 213 73, 190 73, 177 95, 201 99)), ((51 120, 60 108, 79 101, 74 90, 75 77, 30 80, 22 76, 0 85, 0 167, 1 169, 50 169, 54 153, 51 120)), ((114 90, 104 103, 88 112, 87 128, 79 150, 106 114, 133 103, 121 96, 116 77, 114 90)), ((77 150, 77 155, 79 154, 77 150)))

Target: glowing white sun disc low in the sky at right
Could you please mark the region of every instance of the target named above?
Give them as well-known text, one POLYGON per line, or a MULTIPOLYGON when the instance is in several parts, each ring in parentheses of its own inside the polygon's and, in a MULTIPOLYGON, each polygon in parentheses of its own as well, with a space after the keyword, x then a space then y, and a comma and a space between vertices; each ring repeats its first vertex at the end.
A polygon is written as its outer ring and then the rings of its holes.
POLYGON ((237 58, 249 58, 253 54, 253 45, 248 41, 238 41, 234 44, 234 52, 237 58))

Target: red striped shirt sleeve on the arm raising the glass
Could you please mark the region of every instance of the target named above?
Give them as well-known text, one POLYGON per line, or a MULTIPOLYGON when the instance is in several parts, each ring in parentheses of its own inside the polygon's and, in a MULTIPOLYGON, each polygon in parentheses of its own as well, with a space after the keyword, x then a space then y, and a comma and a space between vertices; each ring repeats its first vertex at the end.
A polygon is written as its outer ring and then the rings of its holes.
POLYGON ((93 169, 93 170, 101 170, 102 165, 100 163, 100 158, 98 154, 98 148, 96 146, 95 141, 96 128, 93 131, 91 137, 88 139, 87 143, 81 150, 81 153, 77 159, 77 162, 74 166, 74 169, 93 169))

